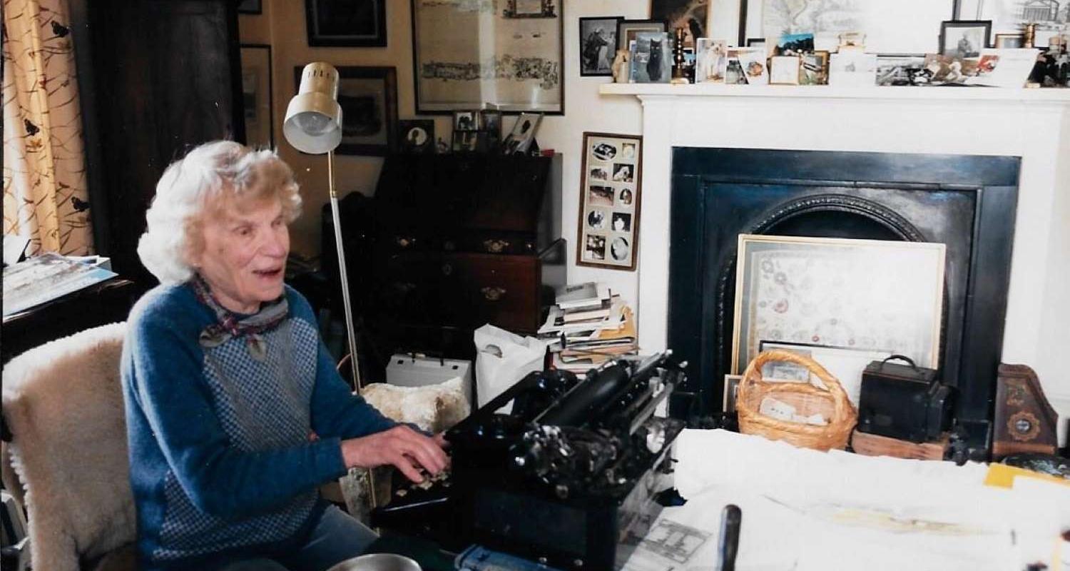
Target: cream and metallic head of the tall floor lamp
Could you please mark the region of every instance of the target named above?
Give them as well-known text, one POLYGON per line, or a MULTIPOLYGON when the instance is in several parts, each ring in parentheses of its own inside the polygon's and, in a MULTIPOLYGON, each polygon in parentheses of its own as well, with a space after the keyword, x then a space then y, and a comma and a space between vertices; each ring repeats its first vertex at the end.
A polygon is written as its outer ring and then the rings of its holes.
POLYGON ((282 135, 295 149, 322 154, 341 142, 338 70, 316 61, 301 72, 301 88, 286 107, 282 135))

